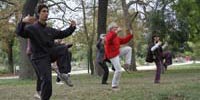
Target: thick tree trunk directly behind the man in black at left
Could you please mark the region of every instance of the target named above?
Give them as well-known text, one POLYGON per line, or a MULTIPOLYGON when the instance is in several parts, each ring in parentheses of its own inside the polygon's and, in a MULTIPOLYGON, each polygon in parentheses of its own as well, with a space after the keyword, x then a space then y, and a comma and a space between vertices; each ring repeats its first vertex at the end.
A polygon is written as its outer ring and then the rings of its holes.
MULTIPOLYGON (((27 16, 28 14, 34 15, 35 7, 38 3, 38 0, 26 0, 26 3, 23 7, 22 16, 27 16)), ((27 47, 27 40, 20 39, 20 58, 21 58, 21 65, 20 65, 20 79, 33 79, 34 78, 34 70, 30 63, 28 56, 26 55, 26 47, 27 47)))

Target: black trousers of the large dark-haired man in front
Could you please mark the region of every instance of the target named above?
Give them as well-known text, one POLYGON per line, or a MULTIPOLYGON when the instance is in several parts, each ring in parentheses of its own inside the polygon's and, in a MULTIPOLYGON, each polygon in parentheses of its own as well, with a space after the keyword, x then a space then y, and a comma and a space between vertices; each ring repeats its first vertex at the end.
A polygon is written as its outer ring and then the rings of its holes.
POLYGON ((50 50, 49 55, 31 60, 38 77, 36 90, 41 91, 42 100, 49 100, 52 95, 51 62, 54 61, 57 61, 60 73, 68 73, 71 71, 70 57, 67 46, 60 45, 53 47, 50 50))

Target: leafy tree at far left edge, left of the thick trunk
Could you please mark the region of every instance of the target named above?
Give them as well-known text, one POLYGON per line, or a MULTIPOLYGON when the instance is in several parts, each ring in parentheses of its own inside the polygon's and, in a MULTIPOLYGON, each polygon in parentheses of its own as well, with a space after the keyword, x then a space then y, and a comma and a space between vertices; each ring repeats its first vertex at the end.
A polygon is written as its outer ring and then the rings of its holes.
MULTIPOLYGON (((14 0, 0 0, 0 43, 1 53, 7 54, 8 71, 14 73, 14 62, 13 62, 13 44, 15 39, 15 25, 18 18, 17 13, 20 9, 19 2, 14 0)), ((7 64, 6 64, 7 65, 7 64)))

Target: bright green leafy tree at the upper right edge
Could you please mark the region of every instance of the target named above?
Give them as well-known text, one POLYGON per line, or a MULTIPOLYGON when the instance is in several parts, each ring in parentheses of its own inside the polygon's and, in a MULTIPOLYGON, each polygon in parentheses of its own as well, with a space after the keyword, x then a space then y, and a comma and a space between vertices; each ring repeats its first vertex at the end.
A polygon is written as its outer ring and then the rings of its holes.
POLYGON ((173 5, 173 10, 177 19, 177 33, 179 33, 175 39, 182 42, 180 45, 182 51, 190 51, 193 53, 192 56, 199 58, 199 0, 179 0, 173 5))

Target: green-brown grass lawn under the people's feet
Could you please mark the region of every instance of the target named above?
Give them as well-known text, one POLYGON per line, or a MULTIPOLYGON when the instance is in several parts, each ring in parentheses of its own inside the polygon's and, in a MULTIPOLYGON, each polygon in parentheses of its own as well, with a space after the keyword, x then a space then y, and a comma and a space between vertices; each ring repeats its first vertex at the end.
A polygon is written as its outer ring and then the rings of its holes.
MULTIPOLYGON (((101 85, 101 77, 72 75, 74 87, 56 85, 51 100, 200 100, 200 64, 171 66, 154 84, 155 71, 122 73, 120 90, 101 85)), ((35 100, 35 80, 0 80, 0 100, 35 100)))

